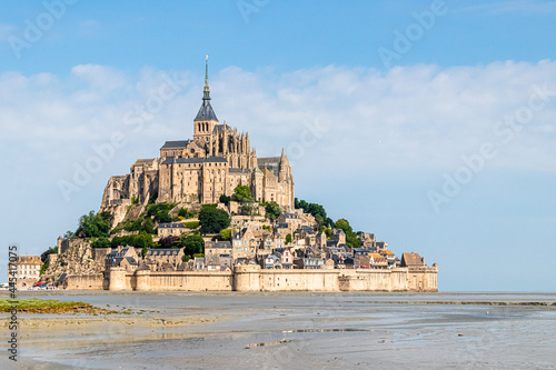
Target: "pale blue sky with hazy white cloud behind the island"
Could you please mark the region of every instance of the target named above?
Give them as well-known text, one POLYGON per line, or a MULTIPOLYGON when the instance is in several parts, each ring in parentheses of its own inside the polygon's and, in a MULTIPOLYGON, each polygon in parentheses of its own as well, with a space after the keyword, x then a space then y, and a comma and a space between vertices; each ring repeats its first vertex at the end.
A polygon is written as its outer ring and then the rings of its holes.
POLYGON ((555 290, 555 1, 0 4, 1 276, 9 243, 53 246, 111 174, 192 136, 210 54, 218 118, 284 147, 299 198, 438 262, 441 290, 555 290))

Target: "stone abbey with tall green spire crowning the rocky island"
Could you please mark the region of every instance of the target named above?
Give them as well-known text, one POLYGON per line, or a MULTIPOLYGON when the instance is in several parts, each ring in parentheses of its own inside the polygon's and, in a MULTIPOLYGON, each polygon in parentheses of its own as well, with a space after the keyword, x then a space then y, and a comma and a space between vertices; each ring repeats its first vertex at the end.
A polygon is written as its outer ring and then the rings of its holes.
POLYGON ((210 104, 208 61, 202 104, 193 120, 193 138, 167 141, 160 158, 139 159, 129 174, 112 176, 105 188, 102 210, 156 202, 216 203, 248 186, 257 201, 294 208, 294 177, 287 156, 257 158, 249 134, 220 123, 210 104), (132 201, 133 200, 133 201, 132 201))

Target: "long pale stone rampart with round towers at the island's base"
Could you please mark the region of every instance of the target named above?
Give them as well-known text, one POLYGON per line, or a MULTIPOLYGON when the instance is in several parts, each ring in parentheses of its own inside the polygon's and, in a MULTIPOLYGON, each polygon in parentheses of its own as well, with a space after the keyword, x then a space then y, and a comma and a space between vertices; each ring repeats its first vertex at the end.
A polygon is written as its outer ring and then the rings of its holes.
POLYGON ((69 276, 66 289, 138 291, 423 291, 436 292, 438 266, 389 270, 262 270, 239 266, 234 271, 141 270, 111 268, 102 274, 69 276))

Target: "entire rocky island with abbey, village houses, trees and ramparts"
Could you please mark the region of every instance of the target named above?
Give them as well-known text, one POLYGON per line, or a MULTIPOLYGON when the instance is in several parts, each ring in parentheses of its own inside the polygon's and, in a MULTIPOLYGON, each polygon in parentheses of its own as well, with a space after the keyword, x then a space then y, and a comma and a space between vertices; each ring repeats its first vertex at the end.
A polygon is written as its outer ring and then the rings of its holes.
MULTIPOLYGON (((192 116, 192 114, 191 114, 192 116)), ((438 266, 394 253, 371 232, 295 197, 281 150, 257 157, 248 132, 220 122, 208 61, 193 137, 112 176, 99 212, 42 254, 40 278, 64 289, 437 291, 438 266)), ((177 139, 177 140, 176 140, 177 139)), ((34 259, 32 259, 34 261, 34 259)))

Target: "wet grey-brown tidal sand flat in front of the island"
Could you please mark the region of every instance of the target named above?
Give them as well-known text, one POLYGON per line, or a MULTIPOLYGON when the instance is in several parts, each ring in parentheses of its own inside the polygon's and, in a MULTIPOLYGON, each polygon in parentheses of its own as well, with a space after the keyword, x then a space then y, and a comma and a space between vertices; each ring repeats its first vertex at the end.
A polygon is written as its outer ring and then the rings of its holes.
POLYGON ((126 313, 21 314, 21 361, 4 356, 2 369, 554 369, 556 360, 556 294, 34 297, 126 313))

